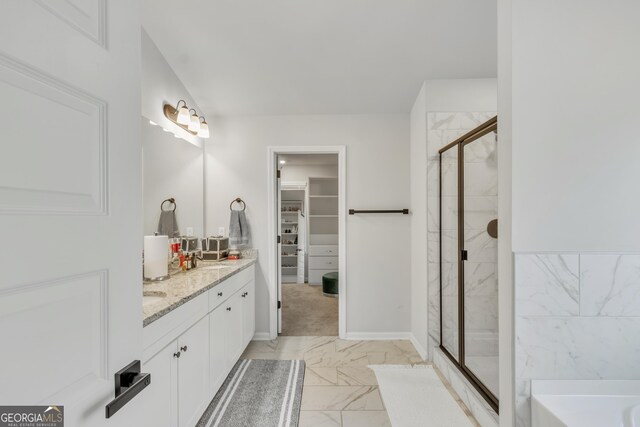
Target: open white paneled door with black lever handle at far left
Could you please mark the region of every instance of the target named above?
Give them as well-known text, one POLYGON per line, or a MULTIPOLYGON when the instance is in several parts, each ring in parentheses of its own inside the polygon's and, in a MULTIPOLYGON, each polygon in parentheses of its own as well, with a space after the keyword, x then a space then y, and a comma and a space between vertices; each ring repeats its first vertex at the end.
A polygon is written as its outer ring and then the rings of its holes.
POLYGON ((139 400, 105 405, 142 355, 137 1, 0 3, 0 100, 0 404, 130 426, 139 400))

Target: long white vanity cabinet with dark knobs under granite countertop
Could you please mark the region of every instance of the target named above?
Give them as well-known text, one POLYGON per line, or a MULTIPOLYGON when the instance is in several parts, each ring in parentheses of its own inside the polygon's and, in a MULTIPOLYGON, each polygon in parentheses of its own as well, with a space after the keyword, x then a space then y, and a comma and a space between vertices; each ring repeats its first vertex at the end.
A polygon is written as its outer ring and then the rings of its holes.
POLYGON ((140 394, 145 414, 132 417, 136 425, 196 425, 253 338, 254 291, 250 266, 144 328, 151 385, 140 394))

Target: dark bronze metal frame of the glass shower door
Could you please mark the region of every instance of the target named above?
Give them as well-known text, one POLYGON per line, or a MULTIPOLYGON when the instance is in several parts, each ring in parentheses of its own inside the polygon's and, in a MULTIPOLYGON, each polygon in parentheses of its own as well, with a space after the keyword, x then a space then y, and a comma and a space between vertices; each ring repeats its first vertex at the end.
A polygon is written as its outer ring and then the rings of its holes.
MULTIPOLYGON (((445 145, 438 151, 439 160, 439 256, 440 256, 440 350, 453 362, 453 364, 462 372, 473 387, 487 401, 496 413, 499 413, 498 398, 491 390, 469 369, 465 364, 465 318, 464 318, 464 262, 467 260, 467 251, 464 242, 464 147, 467 144, 482 138, 491 132, 498 131, 498 117, 494 117, 475 129, 467 132, 455 141, 445 145), (442 154, 446 151, 458 150, 458 356, 459 361, 447 350, 442 340, 442 154)), ((499 370, 498 370, 499 372, 499 370)), ((499 375, 499 374, 498 374, 499 375)))

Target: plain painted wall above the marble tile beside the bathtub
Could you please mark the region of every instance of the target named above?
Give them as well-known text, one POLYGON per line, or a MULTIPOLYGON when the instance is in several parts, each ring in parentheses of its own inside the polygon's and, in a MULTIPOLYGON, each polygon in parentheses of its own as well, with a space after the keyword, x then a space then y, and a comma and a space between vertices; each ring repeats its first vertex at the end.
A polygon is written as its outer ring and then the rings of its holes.
POLYGON ((513 2, 513 250, 640 249, 640 3, 513 2))

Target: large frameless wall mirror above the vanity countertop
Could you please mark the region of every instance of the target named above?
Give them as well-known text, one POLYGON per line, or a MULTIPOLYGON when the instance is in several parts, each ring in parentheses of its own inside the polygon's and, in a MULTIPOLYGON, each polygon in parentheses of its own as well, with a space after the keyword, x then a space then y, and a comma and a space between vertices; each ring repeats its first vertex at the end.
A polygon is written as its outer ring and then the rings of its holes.
MULTIPOLYGON (((174 198, 181 235, 204 236, 204 150, 142 118, 144 235, 158 229, 160 205, 174 198)), ((165 204, 165 207, 168 207, 165 204)))

